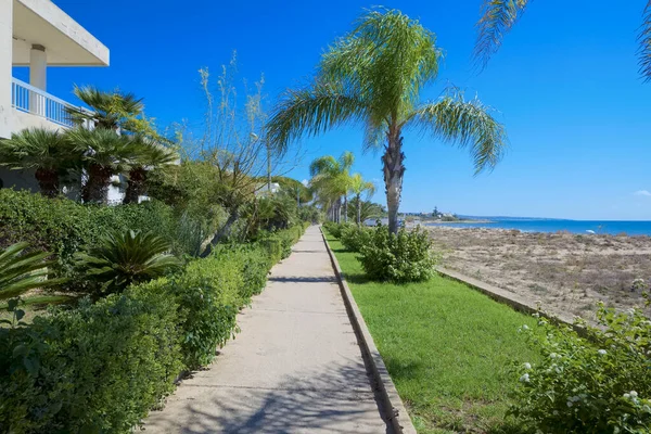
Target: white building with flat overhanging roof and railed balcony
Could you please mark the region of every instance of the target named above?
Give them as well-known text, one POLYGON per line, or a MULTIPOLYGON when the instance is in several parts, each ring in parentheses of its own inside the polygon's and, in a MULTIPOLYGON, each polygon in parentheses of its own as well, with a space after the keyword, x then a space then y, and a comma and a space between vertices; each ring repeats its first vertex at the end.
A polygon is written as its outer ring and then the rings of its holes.
MULTIPOLYGON (((0 0, 0 139, 73 126, 71 104, 48 93, 48 67, 56 66, 108 66, 108 49, 50 0, 0 0), (28 84, 13 77, 14 66, 29 67, 28 84)), ((0 168, 0 179, 36 191, 29 173, 0 168)))

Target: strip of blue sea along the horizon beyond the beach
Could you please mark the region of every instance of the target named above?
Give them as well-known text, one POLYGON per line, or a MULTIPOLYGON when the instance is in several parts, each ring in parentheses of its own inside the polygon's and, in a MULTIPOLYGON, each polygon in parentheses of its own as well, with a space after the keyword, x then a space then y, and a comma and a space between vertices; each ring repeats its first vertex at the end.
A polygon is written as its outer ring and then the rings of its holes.
POLYGON ((431 224, 430 226, 446 226, 452 228, 488 228, 518 229, 525 232, 557 232, 572 233, 608 233, 616 235, 651 235, 651 221, 626 220, 562 220, 548 218, 515 218, 515 217, 471 217, 489 220, 484 224, 431 224))

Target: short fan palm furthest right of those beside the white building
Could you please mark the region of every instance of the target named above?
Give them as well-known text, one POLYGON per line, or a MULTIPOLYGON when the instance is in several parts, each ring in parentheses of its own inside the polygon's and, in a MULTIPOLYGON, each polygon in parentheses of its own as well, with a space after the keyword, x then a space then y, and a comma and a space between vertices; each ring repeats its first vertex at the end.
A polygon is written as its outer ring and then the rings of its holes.
POLYGON ((138 196, 144 192, 146 176, 154 167, 163 167, 178 159, 178 155, 162 144, 143 137, 130 139, 133 161, 128 174, 127 190, 123 204, 138 203, 138 196))

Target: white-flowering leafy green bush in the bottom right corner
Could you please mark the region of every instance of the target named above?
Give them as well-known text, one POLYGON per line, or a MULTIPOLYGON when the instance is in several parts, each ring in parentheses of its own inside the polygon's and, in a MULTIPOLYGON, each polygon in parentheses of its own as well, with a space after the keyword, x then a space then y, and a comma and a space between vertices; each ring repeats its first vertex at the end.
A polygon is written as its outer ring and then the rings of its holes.
POLYGON ((539 330, 520 332, 541 359, 514 366, 510 414, 545 434, 651 433, 651 321, 643 311, 600 304, 598 327, 577 321, 587 337, 538 318, 539 330))

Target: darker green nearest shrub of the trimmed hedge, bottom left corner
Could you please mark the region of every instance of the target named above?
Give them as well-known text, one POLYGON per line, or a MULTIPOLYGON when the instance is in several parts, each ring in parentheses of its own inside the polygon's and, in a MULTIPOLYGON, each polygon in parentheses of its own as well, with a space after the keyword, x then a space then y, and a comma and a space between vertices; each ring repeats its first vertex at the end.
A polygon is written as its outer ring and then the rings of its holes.
POLYGON ((133 288, 0 329, 0 426, 11 433, 128 433, 174 390, 177 305, 133 288))

